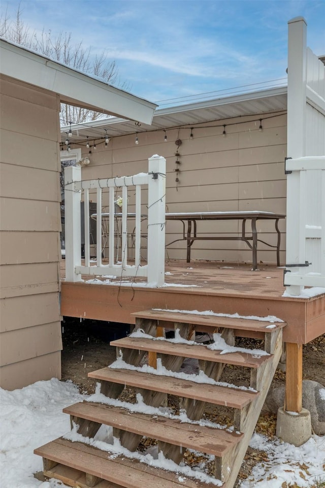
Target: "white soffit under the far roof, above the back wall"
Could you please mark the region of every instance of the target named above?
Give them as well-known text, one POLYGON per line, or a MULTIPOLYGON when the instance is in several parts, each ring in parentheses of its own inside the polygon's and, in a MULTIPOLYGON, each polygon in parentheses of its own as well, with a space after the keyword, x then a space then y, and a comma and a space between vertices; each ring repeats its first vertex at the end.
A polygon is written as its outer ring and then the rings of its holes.
MULTIPOLYGON (((287 87, 270 88, 253 93, 246 93, 217 100, 192 103, 177 107, 156 109, 152 124, 135 125, 134 121, 117 117, 87 122, 85 125, 72 125, 73 140, 103 138, 105 132, 110 137, 135 134, 155 130, 171 129, 172 127, 208 123, 216 120, 245 115, 263 114, 286 111, 287 87)), ((69 127, 61 127, 62 142, 67 137, 69 127)))

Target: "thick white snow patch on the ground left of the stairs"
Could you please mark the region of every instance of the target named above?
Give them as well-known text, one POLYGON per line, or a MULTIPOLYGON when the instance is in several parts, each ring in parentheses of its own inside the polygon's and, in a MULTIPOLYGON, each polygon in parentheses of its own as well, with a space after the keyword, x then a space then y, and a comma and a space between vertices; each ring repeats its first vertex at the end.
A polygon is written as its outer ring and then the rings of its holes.
POLYGON ((33 451, 69 432, 69 415, 62 409, 86 398, 72 382, 55 378, 13 391, 0 388, 2 488, 54 488, 53 482, 34 478, 43 462, 33 451))

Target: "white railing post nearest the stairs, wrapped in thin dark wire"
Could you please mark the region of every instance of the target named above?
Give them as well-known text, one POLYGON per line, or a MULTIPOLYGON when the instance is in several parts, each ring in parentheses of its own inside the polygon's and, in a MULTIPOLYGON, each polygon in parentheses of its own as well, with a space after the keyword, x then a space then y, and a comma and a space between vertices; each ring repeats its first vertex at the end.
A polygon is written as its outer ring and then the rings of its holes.
POLYGON ((166 159, 148 160, 148 283, 165 283, 166 159))

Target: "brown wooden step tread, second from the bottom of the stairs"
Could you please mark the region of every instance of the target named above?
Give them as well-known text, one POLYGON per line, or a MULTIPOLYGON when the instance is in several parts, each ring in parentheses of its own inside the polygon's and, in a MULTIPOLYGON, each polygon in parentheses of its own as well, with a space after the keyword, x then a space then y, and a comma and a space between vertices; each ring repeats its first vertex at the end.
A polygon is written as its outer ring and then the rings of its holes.
POLYGON ((234 447, 242 437, 242 434, 225 429, 91 402, 76 403, 64 408, 63 413, 219 457, 234 447))

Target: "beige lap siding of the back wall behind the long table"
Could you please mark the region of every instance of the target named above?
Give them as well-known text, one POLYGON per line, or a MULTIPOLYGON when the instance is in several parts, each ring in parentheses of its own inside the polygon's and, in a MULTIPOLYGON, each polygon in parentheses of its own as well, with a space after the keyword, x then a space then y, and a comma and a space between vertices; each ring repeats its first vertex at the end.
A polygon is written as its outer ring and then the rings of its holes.
MULTIPOLYGON (((167 160, 166 203, 170 212, 264 210, 285 214, 286 177, 286 114, 256 114, 218 120, 201 125, 193 121, 191 128, 135 133, 113 137, 107 147, 98 144, 88 154, 83 146, 82 156, 90 165, 83 168, 83 178, 105 178, 147 171, 148 158, 153 154, 167 160), (263 130, 259 131, 259 118, 263 130), (222 136, 223 124, 226 135, 222 136), (178 158, 179 184, 175 178, 175 141, 180 139, 178 158)), ((76 146, 77 147, 77 146, 76 146)), ((95 200, 95 195, 92 195, 95 200)), ((132 203, 132 195, 129 197, 132 203)), ((276 244, 274 222, 257 222, 259 238, 276 244)), ((280 221, 281 263, 285 262, 285 221, 280 221)), ((241 224, 236 221, 201 222, 198 232, 210 235, 237 236, 241 224)), ((181 237, 182 224, 169 221, 166 242, 181 237)), ((258 245, 258 260, 276 262, 276 253, 263 243, 258 245)), ((185 259, 185 242, 168 247, 169 258, 185 259)), ((196 241, 192 246, 193 259, 251 261, 251 251, 240 241, 196 241)))

